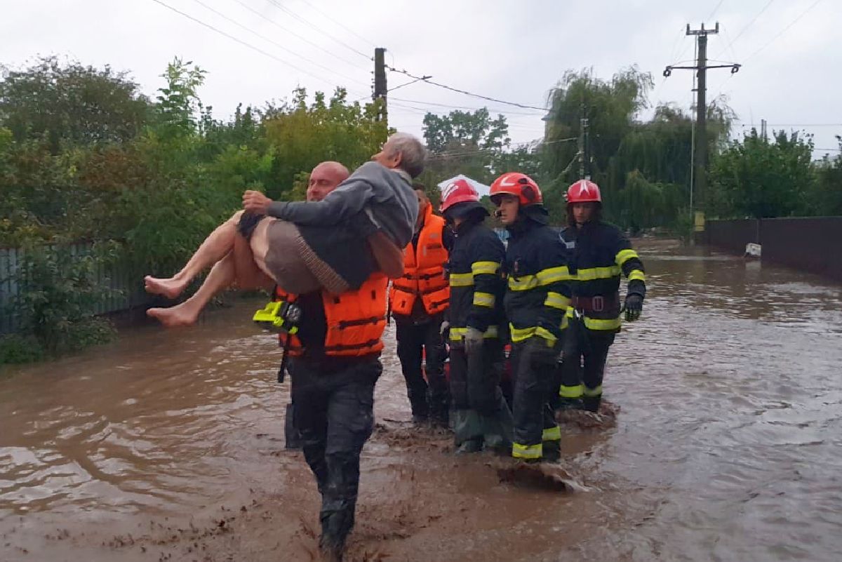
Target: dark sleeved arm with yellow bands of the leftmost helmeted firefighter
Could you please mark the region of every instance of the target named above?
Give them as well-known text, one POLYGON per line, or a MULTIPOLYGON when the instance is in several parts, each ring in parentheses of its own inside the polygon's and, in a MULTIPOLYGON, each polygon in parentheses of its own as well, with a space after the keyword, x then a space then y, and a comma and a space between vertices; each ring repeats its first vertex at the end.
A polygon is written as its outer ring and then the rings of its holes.
POLYGON ((473 273, 474 294, 471 310, 468 311, 466 326, 479 331, 488 330, 494 319, 497 294, 500 292, 500 267, 505 257, 505 248, 497 235, 482 236, 472 248, 471 273, 473 273))

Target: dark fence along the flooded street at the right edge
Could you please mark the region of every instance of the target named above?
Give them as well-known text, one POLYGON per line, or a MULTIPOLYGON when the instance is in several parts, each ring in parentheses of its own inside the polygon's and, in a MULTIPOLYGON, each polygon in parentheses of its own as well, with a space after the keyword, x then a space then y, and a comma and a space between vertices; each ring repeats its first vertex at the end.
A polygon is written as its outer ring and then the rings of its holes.
POLYGON ((763 247, 763 259, 842 281, 842 217, 709 220, 706 241, 742 254, 749 242, 763 247))

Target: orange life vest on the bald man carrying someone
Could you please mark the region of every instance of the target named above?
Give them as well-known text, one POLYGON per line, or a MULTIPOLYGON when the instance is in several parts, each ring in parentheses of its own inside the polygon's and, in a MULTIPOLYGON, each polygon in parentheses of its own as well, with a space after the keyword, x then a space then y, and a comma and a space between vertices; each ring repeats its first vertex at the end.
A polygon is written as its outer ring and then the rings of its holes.
MULTIPOLYGON (((325 323, 324 353, 329 356, 361 356, 379 353, 383 349, 381 339, 386 329, 386 287, 389 280, 382 273, 373 273, 360 289, 343 294, 322 291, 325 323)), ((276 288, 274 296, 279 300, 295 302, 295 294, 287 294, 276 288)), ((297 336, 281 334, 280 345, 292 356, 301 356, 304 347, 297 336)))

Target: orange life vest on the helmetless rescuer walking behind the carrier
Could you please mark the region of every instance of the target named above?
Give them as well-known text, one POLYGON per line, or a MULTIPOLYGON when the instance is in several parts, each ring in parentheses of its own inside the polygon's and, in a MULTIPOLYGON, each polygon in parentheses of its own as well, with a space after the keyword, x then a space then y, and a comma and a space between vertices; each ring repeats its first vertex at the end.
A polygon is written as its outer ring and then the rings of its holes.
POLYGON ((392 313, 410 315, 418 296, 427 314, 447 310, 450 302, 450 284, 445 278, 447 250, 441 239, 445 220, 433 215, 433 205, 428 205, 424 226, 418 233, 418 245, 409 242, 403 251, 403 275, 392 280, 392 313))

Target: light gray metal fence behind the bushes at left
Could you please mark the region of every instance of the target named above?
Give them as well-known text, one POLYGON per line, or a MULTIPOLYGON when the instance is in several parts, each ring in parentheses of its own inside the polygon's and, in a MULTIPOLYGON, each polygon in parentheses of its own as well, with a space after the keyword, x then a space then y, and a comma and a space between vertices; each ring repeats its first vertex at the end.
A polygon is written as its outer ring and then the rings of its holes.
MULTIPOLYGON (((45 248, 67 252, 80 259, 93 252, 91 243, 45 248)), ((17 331, 20 327, 20 318, 13 313, 12 306, 19 296, 17 276, 25 257, 26 250, 22 248, 0 248, 0 334, 17 331)), ((106 290, 107 294, 94 306, 95 314, 129 310, 150 302, 149 294, 143 290, 140 276, 132 274, 125 266, 108 266, 99 261, 97 263, 94 281, 104 289, 110 290, 106 290)))

